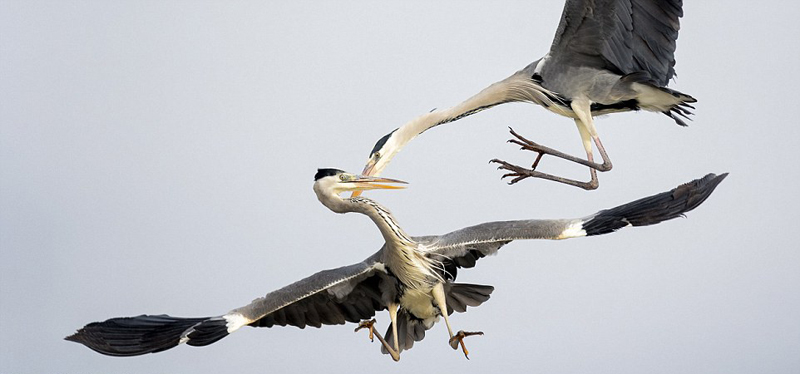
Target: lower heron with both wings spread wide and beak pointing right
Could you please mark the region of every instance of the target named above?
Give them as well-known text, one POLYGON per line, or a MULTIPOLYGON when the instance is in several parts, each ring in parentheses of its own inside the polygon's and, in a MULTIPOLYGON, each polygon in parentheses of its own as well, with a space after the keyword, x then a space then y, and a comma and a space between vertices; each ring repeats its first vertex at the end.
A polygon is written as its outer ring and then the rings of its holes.
MULTIPOLYGON (((453 349, 466 336, 454 334, 449 314, 465 312, 489 299, 492 286, 455 283, 459 268, 471 268, 513 240, 568 239, 601 235, 627 226, 645 226, 684 215, 714 191, 727 174, 709 174, 668 192, 639 199, 577 219, 486 222, 439 236, 410 236, 385 207, 366 197, 342 198, 341 193, 376 188, 399 188, 401 181, 319 169, 314 192, 336 213, 368 216, 385 244, 353 265, 324 270, 268 293, 248 305, 214 317, 181 318, 140 315, 94 322, 67 340, 111 356, 160 352, 179 344, 204 346, 243 326, 305 326, 359 323, 378 337, 384 353, 394 360, 425 336, 443 317, 453 349), (372 318, 387 310, 391 325, 385 338, 373 330, 372 318)), ((468 357, 468 356, 467 356, 468 357)))

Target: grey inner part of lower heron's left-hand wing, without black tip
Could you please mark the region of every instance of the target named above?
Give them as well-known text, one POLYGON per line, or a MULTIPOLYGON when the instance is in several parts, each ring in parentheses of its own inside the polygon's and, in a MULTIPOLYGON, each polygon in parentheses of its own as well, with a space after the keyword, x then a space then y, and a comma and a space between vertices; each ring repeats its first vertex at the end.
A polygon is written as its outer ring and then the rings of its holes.
POLYGON ((225 318, 240 326, 300 328, 371 318, 386 308, 381 288, 393 289, 377 258, 376 254, 354 265, 321 271, 234 309, 225 318))

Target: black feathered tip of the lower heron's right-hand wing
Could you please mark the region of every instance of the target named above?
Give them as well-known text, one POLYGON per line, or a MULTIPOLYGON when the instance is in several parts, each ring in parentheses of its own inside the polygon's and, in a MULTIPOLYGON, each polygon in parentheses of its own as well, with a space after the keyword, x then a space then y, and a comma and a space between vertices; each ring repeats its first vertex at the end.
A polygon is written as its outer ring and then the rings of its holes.
POLYGON ((647 226, 683 216, 702 204, 728 173, 708 174, 669 192, 602 210, 583 224, 587 236, 614 232, 626 226, 647 226))

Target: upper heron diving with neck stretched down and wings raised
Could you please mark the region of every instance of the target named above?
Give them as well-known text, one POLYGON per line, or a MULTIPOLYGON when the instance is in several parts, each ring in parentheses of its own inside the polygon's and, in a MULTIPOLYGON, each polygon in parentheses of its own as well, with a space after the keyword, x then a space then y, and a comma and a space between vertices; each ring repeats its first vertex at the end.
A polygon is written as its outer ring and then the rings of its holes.
POLYGON ((661 112, 677 124, 696 100, 667 88, 675 75, 675 41, 683 15, 682 0, 567 0, 550 51, 510 77, 496 82, 454 107, 419 116, 380 138, 369 155, 365 175, 379 175, 392 157, 422 132, 509 102, 541 105, 574 119, 586 159, 516 137, 510 142, 538 153, 530 169, 494 159, 514 177, 544 178, 584 189, 599 186, 596 171, 611 170, 594 125, 594 116, 646 110, 661 112), (594 161, 592 142, 603 159, 594 161), (536 171, 544 154, 589 167, 591 180, 581 182, 536 171))

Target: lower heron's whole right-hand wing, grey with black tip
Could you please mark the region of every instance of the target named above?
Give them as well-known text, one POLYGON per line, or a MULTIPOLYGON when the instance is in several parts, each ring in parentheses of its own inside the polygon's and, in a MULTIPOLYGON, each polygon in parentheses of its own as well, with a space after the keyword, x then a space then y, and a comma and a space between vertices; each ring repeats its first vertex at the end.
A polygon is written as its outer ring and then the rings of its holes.
POLYGON ((670 191, 601 210, 584 218, 487 222, 416 240, 431 256, 446 258, 456 267, 469 268, 475 266, 478 259, 497 252, 512 240, 601 235, 627 226, 653 225, 683 216, 703 203, 727 175, 708 174, 670 191))

